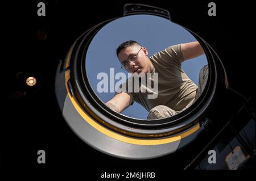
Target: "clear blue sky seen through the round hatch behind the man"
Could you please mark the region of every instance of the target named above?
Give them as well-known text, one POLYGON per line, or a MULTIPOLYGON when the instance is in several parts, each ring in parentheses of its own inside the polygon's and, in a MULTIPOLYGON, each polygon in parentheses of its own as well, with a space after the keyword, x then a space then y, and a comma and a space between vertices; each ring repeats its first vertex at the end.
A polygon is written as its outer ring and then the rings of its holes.
MULTIPOLYGON (((110 68, 114 68, 115 74, 123 72, 128 76, 126 71, 120 69, 121 65, 115 55, 118 45, 127 40, 138 41, 147 48, 149 56, 171 45, 196 41, 195 37, 183 27, 159 16, 126 16, 106 24, 93 37, 86 53, 85 65, 90 85, 104 103, 112 99, 114 93, 97 91, 97 84, 101 81, 97 79, 97 74, 104 72, 109 75, 110 68)), ((197 85, 199 71, 206 64, 207 58, 202 55, 183 62, 182 68, 197 85)), ((115 83, 118 81, 115 80, 115 83)), ((146 119, 148 112, 140 104, 134 103, 122 114, 146 119)))

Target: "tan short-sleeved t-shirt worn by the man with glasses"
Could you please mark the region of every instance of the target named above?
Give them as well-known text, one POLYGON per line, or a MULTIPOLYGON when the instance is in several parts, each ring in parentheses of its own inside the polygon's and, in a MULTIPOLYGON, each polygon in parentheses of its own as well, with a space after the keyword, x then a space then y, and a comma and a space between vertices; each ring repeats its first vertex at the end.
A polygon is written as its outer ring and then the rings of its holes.
POLYGON ((128 91, 129 86, 133 85, 133 83, 128 84, 128 82, 134 81, 132 77, 128 78, 117 92, 126 92, 131 97, 131 104, 134 101, 138 102, 147 111, 159 105, 168 106, 175 111, 182 111, 191 106, 195 100, 197 86, 181 68, 181 63, 184 61, 181 44, 173 45, 152 55, 150 61, 154 66, 150 80, 154 81, 155 73, 158 73, 157 92, 155 91, 155 86, 154 89, 150 89, 156 82, 151 83, 151 86, 146 86, 142 83, 137 87, 139 92, 128 91), (146 89, 146 92, 141 91, 142 87, 146 89), (156 98, 148 99, 148 95, 152 94, 156 94, 156 98))

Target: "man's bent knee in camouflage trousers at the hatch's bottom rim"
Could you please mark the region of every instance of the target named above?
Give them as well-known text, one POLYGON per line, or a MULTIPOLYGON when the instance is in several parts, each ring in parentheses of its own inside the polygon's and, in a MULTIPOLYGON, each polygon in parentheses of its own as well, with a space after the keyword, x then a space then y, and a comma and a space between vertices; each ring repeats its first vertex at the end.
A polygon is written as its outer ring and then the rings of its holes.
POLYGON ((159 105, 150 110, 147 119, 163 119, 176 115, 178 112, 172 110, 170 107, 159 105))

